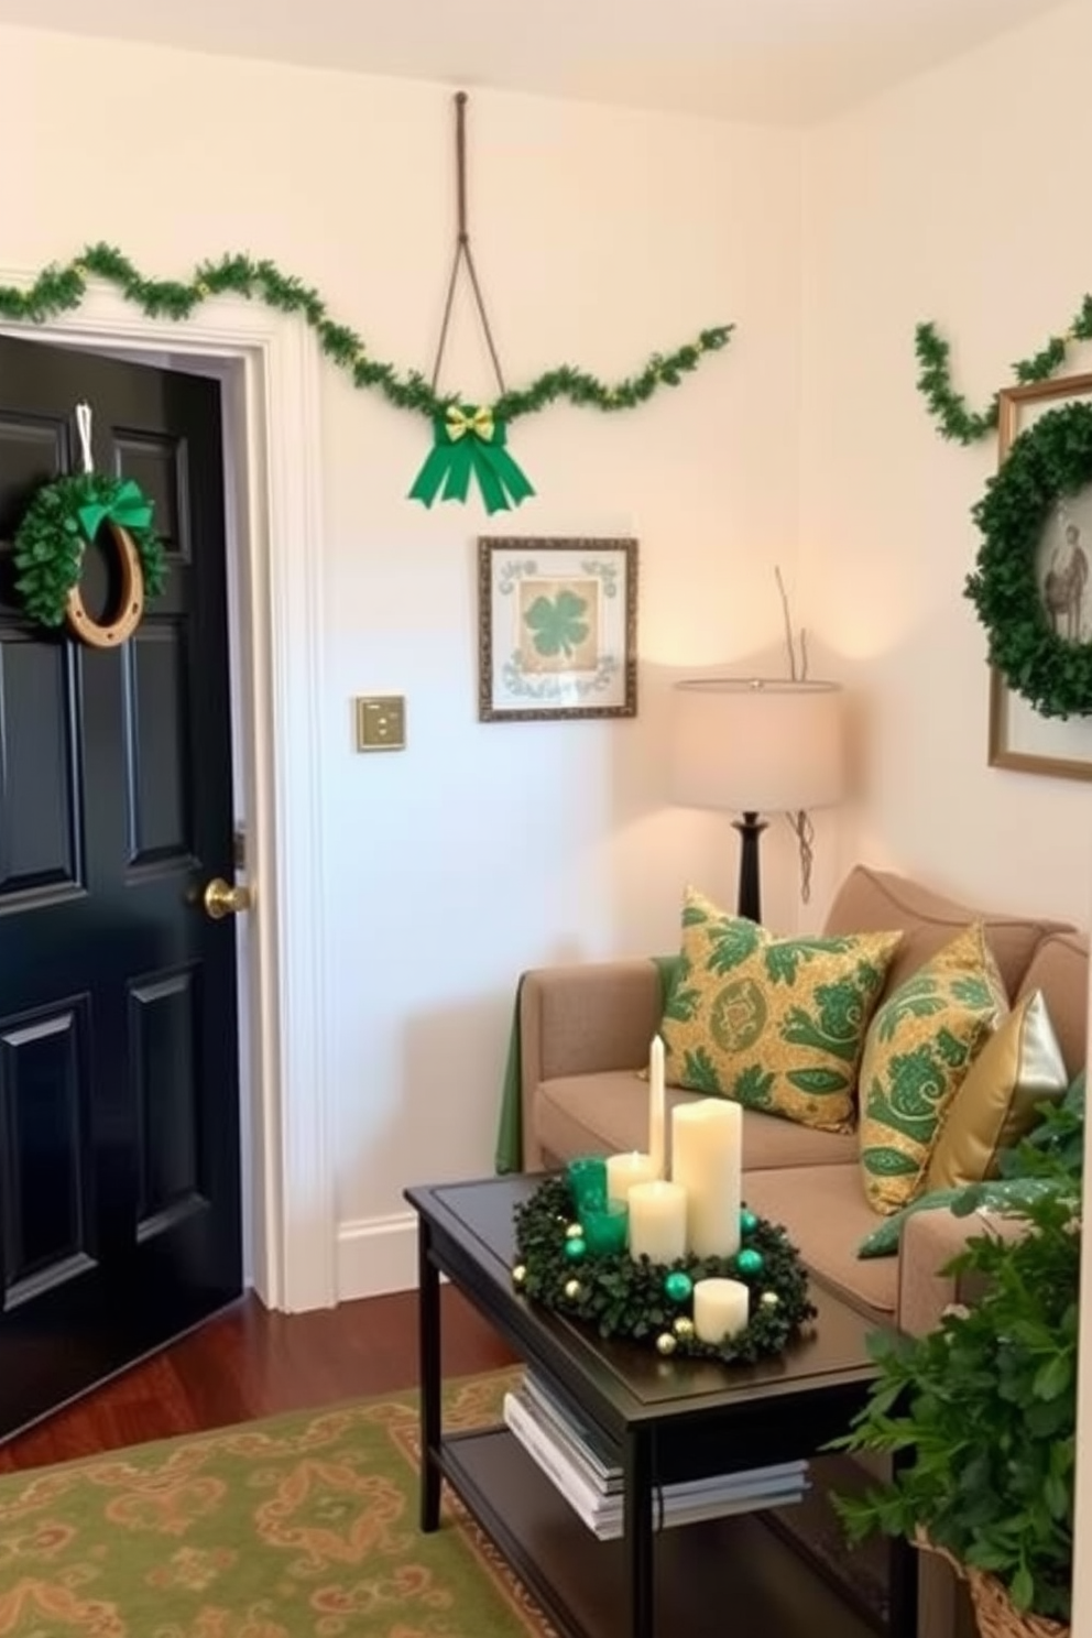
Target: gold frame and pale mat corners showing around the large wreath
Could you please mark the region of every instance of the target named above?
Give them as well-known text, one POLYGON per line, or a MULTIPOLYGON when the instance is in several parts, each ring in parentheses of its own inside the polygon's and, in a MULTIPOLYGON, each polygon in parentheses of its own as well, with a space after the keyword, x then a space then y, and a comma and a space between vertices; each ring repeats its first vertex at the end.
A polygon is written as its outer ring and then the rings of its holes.
MULTIPOLYGON (((1005 387, 999 395, 997 464, 1004 464, 1013 439, 1036 414, 1074 400, 1092 400, 1092 373, 1067 375, 1027 387, 1005 387)), ((1092 526, 1092 486, 1089 488, 1092 526)), ((1092 527, 1089 529, 1092 537, 1092 527)), ((1092 621, 1092 600, 1087 618, 1092 621)), ((1087 639, 1085 639, 1087 640, 1087 639)), ((1017 773, 1041 773, 1058 780, 1092 780, 1092 717, 1043 717, 1017 695, 1002 673, 989 678, 989 767, 1017 773)))

